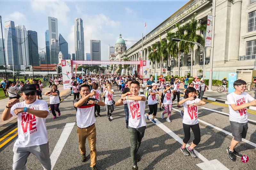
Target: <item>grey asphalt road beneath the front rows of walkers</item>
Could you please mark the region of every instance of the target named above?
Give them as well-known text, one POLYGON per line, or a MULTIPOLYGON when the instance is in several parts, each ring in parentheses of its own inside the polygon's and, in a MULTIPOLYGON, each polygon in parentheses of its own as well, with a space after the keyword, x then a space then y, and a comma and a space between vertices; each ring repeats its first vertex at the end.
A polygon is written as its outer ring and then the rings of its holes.
MULTIPOLYGON (((116 88, 114 96, 114 100, 120 98, 120 92, 116 92, 116 88)), ((65 133, 59 141, 66 123, 76 122, 76 111, 73 107, 72 101, 73 96, 66 96, 66 99, 64 97, 64 100, 60 104, 61 116, 52 120, 51 114, 46 119, 50 154, 52 154, 57 143, 58 149, 56 146, 52 157, 56 157, 56 155, 58 156, 57 152, 60 152, 60 156, 56 159, 56 163, 53 168, 54 170, 90 169, 88 143, 86 143, 87 161, 80 161, 81 155, 78 147, 76 124, 69 124, 69 128, 71 130, 69 136, 65 133), (67 138, 67 140, 65 141, 63 137, 67 138), (63 148, 59 146, 63 146, 63 148)), ((176 103, 174 103, 173 106, 176 110, 181 110, 181 108, 176 107, 176 103)), ((228 107, 223 106, 223 103, 212 103, 210 101, 206 101, 206 105, 202 107, 228 113, 228 107)), ((175 109, 172 110, 172 122, 165 121, 167 114, 162 120, 160 117, 161 111, 159 110, 156 115, 158 120, 157 124, 153 124, 148 120, 146 121, 147 128, 139 150, 139 155, 141 156, 141 161, 138 163, 139 169, 212 169, 214 166, 218 169, 224 169, 225 167, 228 169, 255 169, 255 124, 248 123, 249 129, 246 140, 251 143, 241 142, 236 147, 237 151, 249 157, 249 161, 247 163, 243 163, 241 159, 237 158, 236 162, 232 162, 228 159, 226 151, 226 148, 229 146, 232 139, 230 135, 226 134, 226 131, 229 133, 231 132, 228 116, 215 113, 207 109, 202 109, 200 107, 198 116, 200 121, 199 126, 201 129, 201 142, 195 148, 195 150, 200 153, 200 158, 193 158, 191 156, 185 156, 180 151, 181 144, 179 143, 179 140, 180 138, 183 139, 184 132, 182 128, 182 117, 175 109)), ((146 112, 148 112, 147 105, 146 112)), ((252 111, 248 114, 249 119, 256 121, 256 112, 252 111)), ((103 107, 101 107, 101 115, 101 117, 96 118, 97 168, 100 170, 132 169, 129 134, 128 130, 125 128, 124 106, 115 107, 115 111, 112 114, 113 121, 111 122, 108 121, 103 107)), ((13 129, 15 128, 16 127, 13 129)), ((9 132, 6 132, 4 135, 9 132)), ((16 132, 17 131, 14 131, 11 135, 0 141, 0 144, 3 144, 6 140, 10 139, 10 137, 15 135, 16 132)), ((4 135, 0 138, 4 137, 4 135)), ((0 148, 0 169, 12 169, 12 148, 16 139, 17 137, 14 137, 10 142, 7 142, 0 148)), ((193 139, 194 136, 191 132, 189 144, 193 139)), ((36 157, 30 154, 28 157, 27 169, 34 170, 43 168, 36 157)))

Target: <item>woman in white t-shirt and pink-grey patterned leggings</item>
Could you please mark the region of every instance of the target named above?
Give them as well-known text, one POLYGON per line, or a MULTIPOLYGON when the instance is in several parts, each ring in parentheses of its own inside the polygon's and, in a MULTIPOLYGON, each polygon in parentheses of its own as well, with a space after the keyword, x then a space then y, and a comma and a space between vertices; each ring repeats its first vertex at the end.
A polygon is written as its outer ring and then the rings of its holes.
POLYGON ((171 86, 166 83, 163 91, 164 95, 164 100, 163 100, 163 105, 164 105, 164 112, 161 113, 161 118, 164 119, 164 114, 168 113, 166 121, 172 122, 170 119, 171 112, 172 112, 172 98, 171 94, 172 92, 176 92, 176 90, 171 90, 171 86))

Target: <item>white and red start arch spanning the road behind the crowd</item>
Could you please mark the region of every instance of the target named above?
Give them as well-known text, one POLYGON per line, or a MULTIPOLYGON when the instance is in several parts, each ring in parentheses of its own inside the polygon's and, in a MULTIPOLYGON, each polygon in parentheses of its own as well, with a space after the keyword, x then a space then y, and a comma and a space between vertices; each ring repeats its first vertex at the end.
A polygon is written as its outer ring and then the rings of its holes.
POLYGON ((63 88, 69 89, 73 73, 73 65, 77 64, 128 64, 128 65, 138 65, 138 73, 140 78, 149 78, 150 75, 150 62, 149 60, 140 61, 76 61, 76 60, 61 60, 62 68, 62 78, 63 78, 63 88))

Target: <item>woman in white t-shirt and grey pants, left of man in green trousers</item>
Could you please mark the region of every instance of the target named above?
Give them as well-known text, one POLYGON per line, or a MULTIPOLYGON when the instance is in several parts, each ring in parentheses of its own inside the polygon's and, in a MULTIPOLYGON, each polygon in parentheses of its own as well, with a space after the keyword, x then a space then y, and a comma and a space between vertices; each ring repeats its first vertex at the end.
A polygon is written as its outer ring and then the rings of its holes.
POLYGON ((108 116, 108 121, 110 122, 110 116, 112 116, 112 112, 114 111, 114 103, 113 103, 113 94, 114 90, 112 89, 112 85, 109 83, 107 85, 106 91, 103 93, 103 96, 105 96, 105 104, 106 104, 106 112, 108 116))

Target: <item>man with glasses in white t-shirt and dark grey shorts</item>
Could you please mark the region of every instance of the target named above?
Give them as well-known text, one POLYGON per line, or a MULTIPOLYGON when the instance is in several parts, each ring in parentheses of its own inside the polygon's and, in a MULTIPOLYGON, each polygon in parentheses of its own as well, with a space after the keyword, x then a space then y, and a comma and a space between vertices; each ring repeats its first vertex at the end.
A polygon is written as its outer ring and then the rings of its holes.
POLYGON ((230 146, 227 148, 227 152, 228 158, 232 161, 236 161, 236 156, 239 158, 243 156, 236 152, 234 148, 247 134, 248 120, 246 108, 249 106, 256 106, 256 100, 248 93, 244 92, 246 89, 246 82, 244 80, 236 80, 233 85, 236 91, 227 96, 229 121, 233 135, 233 139, 230 146))

